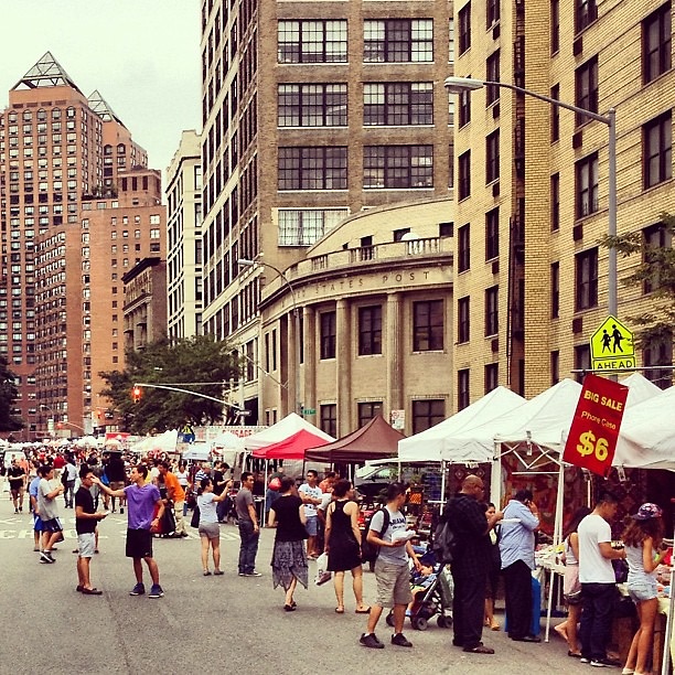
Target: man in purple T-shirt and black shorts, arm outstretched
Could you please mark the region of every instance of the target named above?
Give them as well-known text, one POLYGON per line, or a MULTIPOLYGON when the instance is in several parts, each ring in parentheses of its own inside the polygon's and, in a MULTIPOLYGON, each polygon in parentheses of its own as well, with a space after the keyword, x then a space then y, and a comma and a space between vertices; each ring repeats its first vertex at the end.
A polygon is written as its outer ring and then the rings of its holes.
POLYGON ((143 585, 143 567, 146 561, 152 588, 149 598, 161 598, 164 594, 159 583, 159 568, 152 557, 152 529, 158 528, 164 515, 164 502, 160 495, 159 488, 153 483, 146 485, 148 467, 138 464, 131 469, 129 474, 130 485, 124 490, 110 490, 104 485, 96 476, 92 482, 98 485, 108 496, 126 497, 128 505, 128 526, 127 526, 127 558, 133 559, 133 574, 136 575, 136 586, 131 589, 130 596, 143 596, 146 587, 143 585), (157 508, 157 512, 156 512, 157 508))

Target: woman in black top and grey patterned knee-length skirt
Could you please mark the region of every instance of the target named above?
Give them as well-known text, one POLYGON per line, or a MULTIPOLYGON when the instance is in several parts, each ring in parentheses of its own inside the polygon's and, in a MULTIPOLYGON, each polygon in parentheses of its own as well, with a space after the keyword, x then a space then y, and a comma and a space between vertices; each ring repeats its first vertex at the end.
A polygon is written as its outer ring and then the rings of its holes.
POLYGON ((298 581, 307 588, 307 555, 304 551, 304 539, 307 529, 304 524, 304 505, 302 500, 293 494, 293 479, 283 476, 281 479, 281 495, 275 501, 269 510, 268 525, 277 527, 275 536, 275 550, 272 553, 271 568, 275 588, 282 586, 286 591, 283 609, 287 612, 296 610, 293 591, 298 581))

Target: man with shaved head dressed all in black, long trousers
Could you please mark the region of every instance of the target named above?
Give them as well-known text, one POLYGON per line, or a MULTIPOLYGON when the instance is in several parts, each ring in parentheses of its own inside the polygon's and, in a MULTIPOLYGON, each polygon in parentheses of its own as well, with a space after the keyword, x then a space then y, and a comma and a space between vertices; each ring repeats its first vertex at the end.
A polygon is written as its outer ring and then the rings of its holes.
POLYGON ((494 654, 494 650, 483 646, 483 609, 485 585, 490 561, 490 531, 504 516, 496 512, 489 518, 481 505, 483 481, 478 475, 468 475, 461 491, 448 502, 443 512, 457 546, 452 558, 452 579, 454 596, 452 601, 452 644, 464 652, 494 654))

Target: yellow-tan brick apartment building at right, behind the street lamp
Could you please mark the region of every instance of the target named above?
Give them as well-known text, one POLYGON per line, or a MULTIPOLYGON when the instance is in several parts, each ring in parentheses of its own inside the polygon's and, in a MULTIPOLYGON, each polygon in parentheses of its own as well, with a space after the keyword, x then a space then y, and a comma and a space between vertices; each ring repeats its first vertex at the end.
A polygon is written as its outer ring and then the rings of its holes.
MULTIPOLYGON (((669 243, 675 73, 669 1, 458 0, 454 75, 503 82, 607 115, 617 111, 618 232, 669 243)), ((454 377, 463 407, 495 383, 533 396, 590 367, 608 314, 608 127, 488 86, 457 107, 454 377)), ((653 306, 621 283, 619 318, 653 306)), ((672 363, 672 340, 639 365, 672 363)), ((647 372, 652 377, 662 372, 647 372)), ((662 385, 669 383, 669 375, 662 385)))

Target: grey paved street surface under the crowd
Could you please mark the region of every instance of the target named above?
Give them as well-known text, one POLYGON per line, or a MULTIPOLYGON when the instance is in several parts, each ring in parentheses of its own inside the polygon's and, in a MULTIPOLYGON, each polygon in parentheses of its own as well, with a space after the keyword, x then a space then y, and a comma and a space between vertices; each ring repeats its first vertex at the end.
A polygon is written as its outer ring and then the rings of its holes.
MULTIPOLYGON (((33 553, 30 516, 14 515, 7 493, 0 492, 0 675, 588 673, 567 656, 557 636, 549 644, 531 645, 488 632, 485 643, 496 654, 467 655, 450 644, 452 631, 438 629, 435 621, 425 632, 407 625, 415 646, 405 650, 388 644, 390 629, 383 619, 378 634, 386 649, 366 650, 357 642, 364 618, 353 613, 349 596, 347 612, 334 614, 330 583, 300 589, 298 611, 282 611, 283 593, 271 587, 274 532, 267 529, 258 554, 259 579, 236 576, 238 535, 232 525, 222 527, 223 577, 202 576, 194 531, 186 539, 156 539, 165 597, 151 600, 128 594, 133 575, 124 557, 126 519, 111 515, 101 524, 100 555, 92 564, 93 583, 104 594, 85 597, 75 592, 73 512, 62 508, 62 516, 67 529, 57 562, 41 565, 33 553)), ((365 588, 366 600, 372 600, 371 574, 365 588)))

